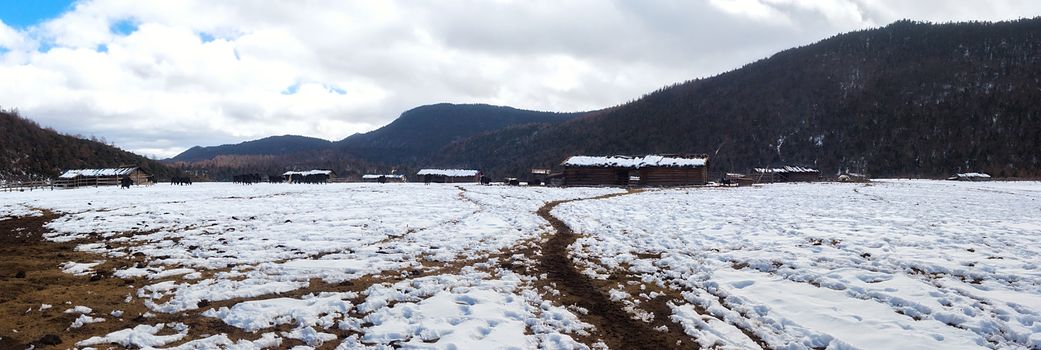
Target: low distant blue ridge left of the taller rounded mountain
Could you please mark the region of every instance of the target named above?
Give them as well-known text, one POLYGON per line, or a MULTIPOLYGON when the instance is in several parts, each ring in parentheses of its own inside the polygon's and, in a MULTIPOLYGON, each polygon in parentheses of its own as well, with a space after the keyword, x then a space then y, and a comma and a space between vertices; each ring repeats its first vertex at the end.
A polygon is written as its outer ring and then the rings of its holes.
POLYGON ((168 161, 198 161, 212 159, 218 155, 270 155, 291 154, 321 150, 332 146, 332 142, 298 135, 270 136, 260 140, 247 141, 234 145, 210 147, 196 146, 187 149, 168 161))

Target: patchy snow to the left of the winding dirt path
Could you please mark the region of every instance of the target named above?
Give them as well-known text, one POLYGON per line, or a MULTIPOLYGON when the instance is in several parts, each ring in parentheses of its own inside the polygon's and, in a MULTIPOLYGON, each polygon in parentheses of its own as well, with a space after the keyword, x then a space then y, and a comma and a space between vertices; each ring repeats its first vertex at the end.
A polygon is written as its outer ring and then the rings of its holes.
MULTIPOLYGON (((49 240, 76 241, 78 250, 108 259, 143 259, 142 265, 117 264, 126 268, 112 275, 145 282, 132 286, 128 302, 144 303, 146 314, 164 320, 212 318, 263 334, 174 341, 188 335, 169 327, 162 332, 137 327, 82 346, 185 342, 178 348, 254 348, 291 339, 312 347, 351 348, 352 342, 388 347, 390 334, 401 334, 421 347, 581 349, 585 346, 572 334, 590 326, 543 299, 533 286, 537 277, 498 269, 493 255, 550 230, 535 214, 544 203, 619 192, 412 183, 158 184, 132 192, 12 193, 0 197, 0 214, 47 208, 60 215, 48 225, 49 240), (457 264, 467 268, 450 268, 457 264), (420 272, 426 275, 410 277, 420 272), (302 292, 318 288, 314 281, 340 285, 372 276, 397 281, 373 284, 363 294, 302 292), (218 301, 234 302, 204 306, 218 301), (469 314, 459 308, 437 315, 449 301, 469 302, 459 304, 469 314), (430 311, 421 316, 410 309, 430 311), (380 323, 370 325, 370 319, 380 323), (363 336, 338 340, 347 329, 363 336), (431 346, 415 338, 420 333, 439 341, 431 346), (152 342, 155 338, 162 342, 152 342)), ((83 273, 92 264, 65 267, 83 273)))

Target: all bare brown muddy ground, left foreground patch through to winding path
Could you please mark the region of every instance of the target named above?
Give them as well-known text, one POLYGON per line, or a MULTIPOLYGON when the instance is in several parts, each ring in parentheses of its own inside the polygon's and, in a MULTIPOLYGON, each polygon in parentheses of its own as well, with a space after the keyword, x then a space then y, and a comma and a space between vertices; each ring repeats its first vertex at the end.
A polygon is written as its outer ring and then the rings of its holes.
MULTIPOLYGON (((624 194, 621 194, 624 195, 624 194)), ((598 198, 607 198, 608 195, 598 198)), ((541 242, 523 242, 513 249, 498 254, 502 268, 523 272, 528 275, 545 274, 549 278, 536 282, 539 290, 551 288, 561 292, 560 295, 548 294, 544 297, 559 305, 568 305, 582 319, 595 327, 588 334, 573 334, 577 340, 588 345, 603 343, 612 349, 696 349, 695 340, 686 335, 683 329, 667 319, 671 311, 668 302, 682 299, 675 291, 660 289, 636 280, 624 271, 612 274, 607 280, 589 278, 579 272, 567 256, 567 249, 579 236, 563 222, 550 213, 558 204, 552 202, 542 206, 538 215, 551 223, 553 231, 547 232, 541 242), (530 264, 514 265, 508 256, 522 254, 530 264), (638 305, 645 311, 659 317, 644 322, 637 320, 626 311, 620 301, 611 301, 608 297, 611 288, 629 285, 633 289, 651 288, 665 295, 653 300, 646 300, 638 305)), ((258 334, 242 331, 227 326, 217 319, 201 317, 201 310, 192 310, 176 315, 154 315, 145 317, 148 308, 142 299, 130 298, 137 288, 146 283, 161 280, 122 279, 110 275, 110 271, 141 264, 141 256, 121 258, 99 256, 95 253, 79 252, 75 247, 83 243, 104 242, 100 238, 91 242, 55 243, 44 240, 47 231, 45 225, 57 218, 57 215, 42 211, 41 216, 14 218, 0 221, 0 350, 26 349, 34 346, 41 348, 72 348, 76 342, 94 335, 103 335, 111 331, 130 328, 139 324, 154 325, 156 323, 180 322, 189 326, 188 340, 196 340, 210 334, 226 333, 233 340, 259 338, 258 334), (75 276, 60 270, 66 261, 105 262, 95 267, 96 274, 75 276), (129 301, 128 301, 129 300, 129 301), (42 309, 42 305, 51 305, 42 309), (78 317, 65 311, 76 305, 87 305, 93 308, 94 316, 106 316, 105 322, 93 323, 80 328, 70 328, 78 317), (122 318, 113 319, 107 316, 113 310, 123 311, 122 318)), ((325 283, 312 280, 306 289, 279 295, 280 297, 300 297, 318 292, 362 292, 375 283, 392 283, 402 278, 420 277, 424 275, 453 273, 463 266, 469 266, 478 260, 456 261, 451 265, 425 264, 420 270, 401 273, 384 274, 382 276, 365 276, 339 284, 325 283), (390 277, 386 277, 390 276, 390 277)), ((176 277, 171 278, 176 280, 176 277)), ((271 298, 274 296, 263 296, 271 298)), ((225 300, 212 302, 208 307, 231 306, 244 300, 225 300)), ((361 300, 355 300, 355 303, 361 300)), ((630 305, 632 306, 632 305, 630 305)), ((207 308, 208 308, 207 307, 207 308)), ((279 329, 275 330, 288 330, 279 329)), ((350 333, 338 329, 326 331, 338 333, 340 338, 350 333)), ((169 332, 172 332, 170 330, 169 332)), ((167 333, 167 332, 163 332, 167 333)), ((160 333, 161 334, 161 333, 160 333)), ((171 344, 176 346, 183 342, 171 344)), ((328 342, 320 348, 334 348, 338 342, 328 342)), ((282 348, 303 345, 299 341, 283 340, 282 348)), ((104 347, 100 347, 104 348, 104 347)))

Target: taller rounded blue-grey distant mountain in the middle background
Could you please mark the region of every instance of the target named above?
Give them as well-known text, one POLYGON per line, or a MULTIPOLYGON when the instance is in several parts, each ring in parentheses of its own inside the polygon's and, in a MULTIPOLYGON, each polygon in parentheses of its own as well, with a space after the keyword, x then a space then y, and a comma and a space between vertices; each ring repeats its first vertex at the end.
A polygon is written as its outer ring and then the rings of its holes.
POLYGON ((344 139, 337 147, 374 161, 416 162, 453 142, 481 133, 517 125, 552 125, 579 115, 487 104, 432 104, 409 109, 374 131, 344 139))

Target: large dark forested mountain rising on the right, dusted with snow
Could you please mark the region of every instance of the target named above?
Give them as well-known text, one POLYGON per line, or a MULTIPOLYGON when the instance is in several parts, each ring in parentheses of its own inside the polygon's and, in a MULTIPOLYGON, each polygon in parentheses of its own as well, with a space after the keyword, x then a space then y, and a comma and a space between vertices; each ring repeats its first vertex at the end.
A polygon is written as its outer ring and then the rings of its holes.
POLYGON ((1037 177, 1039 85, 1041 18, 899 21, 557 125, 457 141, 431 162, 505 176, 570 154, 710 153, 714 171, 790 164, 828 174, 1037 177))

